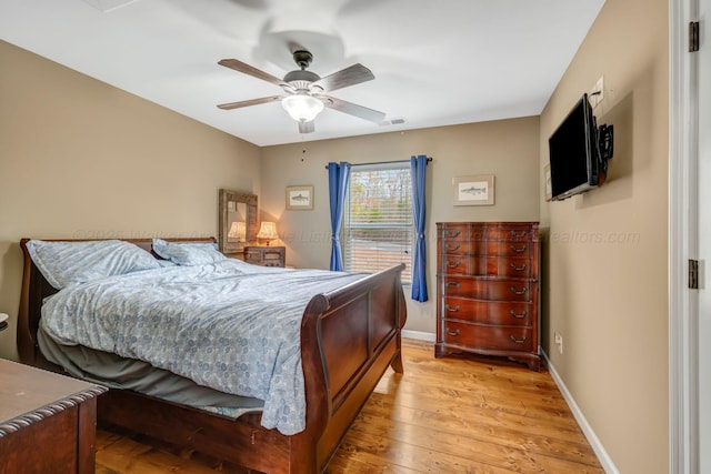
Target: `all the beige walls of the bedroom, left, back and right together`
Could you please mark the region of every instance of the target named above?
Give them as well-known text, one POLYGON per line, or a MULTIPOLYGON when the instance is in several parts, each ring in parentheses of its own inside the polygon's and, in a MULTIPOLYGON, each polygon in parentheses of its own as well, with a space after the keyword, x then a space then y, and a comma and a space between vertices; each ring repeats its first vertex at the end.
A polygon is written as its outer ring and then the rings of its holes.
POLYGON ((540 218, 553 366, 620 472, 667 472, 667 11, 663 0, 607 0, 540 118, 261 150, 0 41, 0 312, 11 315, 0 356, 16 356, 22 236, 211 235, 218 189, 231 188, 259 194, 289 264, 327 268, 326 163, 423 153, 434 158, 430 301, 408 297, 407 329, 434 331, 435 222, 540 218), (548 137, 600 75, 595 113, 615 127, 610 182, 544 202, 548 137), (479 173, 495 174, 495 205, 452 206, 451 179, 479 173), (284 210, 290 184, 314 185, 313 211, 284 210))

